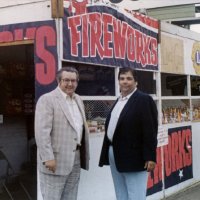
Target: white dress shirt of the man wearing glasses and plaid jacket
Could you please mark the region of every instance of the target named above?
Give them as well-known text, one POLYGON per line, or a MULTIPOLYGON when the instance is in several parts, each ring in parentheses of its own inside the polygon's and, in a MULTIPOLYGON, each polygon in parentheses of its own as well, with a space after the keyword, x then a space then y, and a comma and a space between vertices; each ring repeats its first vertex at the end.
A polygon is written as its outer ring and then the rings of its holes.
MULTIPOLYGON (((59 87, 58 87, 59 88, 59 87)), ((81 115, 81 112, 79 110, 79 107, 75 101, 74 95, 70 97, 66 93, 64 93, 60 88, 59 88, 61 94, 63 97, 66 99, 66 103, 69 108, 69 112, 72 116, 72 120, 74 122, 76 132, 77 132, 77 144, 81 145, 81 139, 82 139, 82 133, 83 133, 83 117, 81 115)))

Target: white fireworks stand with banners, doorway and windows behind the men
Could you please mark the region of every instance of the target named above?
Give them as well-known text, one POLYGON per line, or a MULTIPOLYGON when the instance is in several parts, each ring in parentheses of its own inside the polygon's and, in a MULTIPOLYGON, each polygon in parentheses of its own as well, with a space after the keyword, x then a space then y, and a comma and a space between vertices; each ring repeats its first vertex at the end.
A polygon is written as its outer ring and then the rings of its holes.
MULTIPOLYGON (((0 151, 21 182, 31 185, 29 196, 42 199, 34 107, 56 87, 56 71, 68 65, 79 70, 77 93, 91 132, 90 170, 81 175, 79 200, 115 199, 110 171, 98 167, 98 158, 105 117, 119 95, 120 67, 137 70, 139 89, 152 95, 159 111, 157 166, 149 174, 147 199, 199 181, 200 36, 110 4, 64 1, 63 13, 54 6, 50 0, 0 3, 0 151)), ((6 199, 10 194, 2 187, 6 199)), ((8 189, 16 195, 12 184, 8 189)))

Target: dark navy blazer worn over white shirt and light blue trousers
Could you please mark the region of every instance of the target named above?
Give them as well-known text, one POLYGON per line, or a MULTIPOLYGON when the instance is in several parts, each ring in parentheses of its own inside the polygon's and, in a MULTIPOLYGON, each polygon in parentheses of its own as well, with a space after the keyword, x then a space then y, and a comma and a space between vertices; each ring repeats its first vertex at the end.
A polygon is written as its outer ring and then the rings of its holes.
MULTIPOLYGON (((110 141, 107 137, 107 128, 112 109, 105 123, 100 167, 109 165, 110 141)), ((124 106, 113 135, 112 146, 117 170, 119 172, 143 171, 146 161, 156 162, 157 132, 156 104, 151 96, 137 89, 124 106)))

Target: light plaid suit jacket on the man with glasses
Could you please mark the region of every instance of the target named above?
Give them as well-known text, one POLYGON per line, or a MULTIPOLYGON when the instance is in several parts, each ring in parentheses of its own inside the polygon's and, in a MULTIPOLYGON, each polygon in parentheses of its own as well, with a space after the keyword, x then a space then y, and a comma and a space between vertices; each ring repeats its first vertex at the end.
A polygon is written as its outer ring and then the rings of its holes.
MULTIPOLYGON (((81 167, 89 169, 89 131, 84 105, 79 95, 75 101, 83 117, 81 142, 81 167)), ((35 138, 38 147, 39 169, 52 174, 43 163, 56 160, 56 175, 68 175, 72 171, 77 146, 77 132, 65 98, 58 88, 42 95, 35 111, 35 138)))

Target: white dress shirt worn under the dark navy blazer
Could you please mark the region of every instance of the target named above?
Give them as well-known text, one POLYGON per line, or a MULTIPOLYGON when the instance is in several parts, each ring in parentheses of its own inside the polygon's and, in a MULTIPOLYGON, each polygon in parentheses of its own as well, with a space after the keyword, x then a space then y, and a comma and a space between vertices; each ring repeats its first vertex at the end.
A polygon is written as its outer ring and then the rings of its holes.
POLYGON ((113 108, 113 110, 111 112, 111 117, 110 117, 110 121, 108 124, 108 130, 107 130, 107 136, 111 142, 113 140, 113 135, 114 135, 114 132, 115 132, 115 129, 117 126, 117 122, 119 120, 119 116, 120 116, 124 106, 126 105, 128 99, 135 91, 136 91, 136 89, 125 97, 120 96, 115 107, 113 108))

